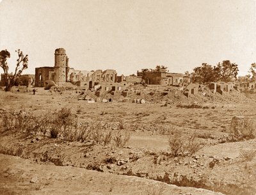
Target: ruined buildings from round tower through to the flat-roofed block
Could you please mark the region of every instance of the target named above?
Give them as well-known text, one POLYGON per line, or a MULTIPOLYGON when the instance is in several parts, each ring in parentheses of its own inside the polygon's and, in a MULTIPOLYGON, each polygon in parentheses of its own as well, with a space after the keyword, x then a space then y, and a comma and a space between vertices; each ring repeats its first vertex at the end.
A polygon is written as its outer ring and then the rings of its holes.
MULTIPOLYGON (((71 82, 77 86, 93 88, 97 84, 122 83, 124 85, 142 82, 141 72, 137 75, 118 76, 116 70, 75 70, 68 65, 68 56, 65 49, 58 48, 54 52, 54 66, 35 68, 35 87, 45 87, 49 81, 61 86, 65 82, 71 82)), ((146 84, 159 84, 163 86, 179 86, 183 82, 189 82, 189 76, 185 74, 172 74, 168 72, 147 72, 143 78, 146 84)))

